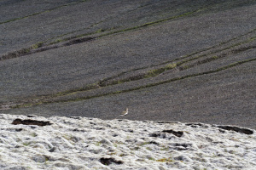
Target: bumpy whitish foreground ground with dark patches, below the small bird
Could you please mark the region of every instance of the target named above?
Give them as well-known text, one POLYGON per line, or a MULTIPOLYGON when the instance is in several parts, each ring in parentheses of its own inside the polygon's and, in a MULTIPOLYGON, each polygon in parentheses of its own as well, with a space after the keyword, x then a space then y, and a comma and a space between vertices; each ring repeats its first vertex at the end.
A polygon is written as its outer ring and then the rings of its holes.
POLYGON ((0 169, 254 170, 256 135, 250 131, 203 123, 0 114, 0 169), (52 124, 11 124, 16 118, 52 124))

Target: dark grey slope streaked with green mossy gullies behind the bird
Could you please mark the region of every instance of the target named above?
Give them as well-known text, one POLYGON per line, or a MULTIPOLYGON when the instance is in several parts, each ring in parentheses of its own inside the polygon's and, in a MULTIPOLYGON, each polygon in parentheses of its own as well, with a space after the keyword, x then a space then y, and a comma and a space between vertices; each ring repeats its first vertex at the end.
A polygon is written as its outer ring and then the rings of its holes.
POLYGON ((0 112, 256 128, 256 1, 27 3, 0 1, 0 112))

